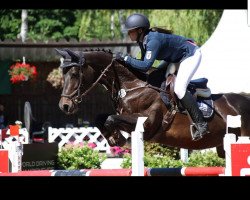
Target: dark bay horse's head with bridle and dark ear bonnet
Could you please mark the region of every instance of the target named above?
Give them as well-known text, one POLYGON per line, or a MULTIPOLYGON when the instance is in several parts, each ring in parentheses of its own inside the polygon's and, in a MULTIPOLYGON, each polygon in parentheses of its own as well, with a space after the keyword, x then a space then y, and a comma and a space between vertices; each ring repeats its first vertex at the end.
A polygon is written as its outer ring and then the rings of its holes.
POLYGON ((77 112, 82 97, 97 84, 97 79, 100 77, 102 70, 100 66, 110 64, 112 54, 108 57, 109 59, 95 55, 94 59, 91 59, 92 64, 96 62, 94 68, 87 62, 87 58, 93 56, 88 51, 75 52, 69 49, 56 49, 56 51, 64 58, 60 66, 63 72, 64 84, 59 107, 66 114, 73 114, 77 112))

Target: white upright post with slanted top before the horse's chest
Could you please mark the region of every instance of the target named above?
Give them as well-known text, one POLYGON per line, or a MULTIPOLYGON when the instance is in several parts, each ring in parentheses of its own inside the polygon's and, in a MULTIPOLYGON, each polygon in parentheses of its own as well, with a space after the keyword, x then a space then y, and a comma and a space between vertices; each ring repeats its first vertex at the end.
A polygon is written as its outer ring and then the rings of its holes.
POLYGON ((131 133, 132 176, 144 176, 143 124, 147 117, 138 117, 135 131, 131 133))

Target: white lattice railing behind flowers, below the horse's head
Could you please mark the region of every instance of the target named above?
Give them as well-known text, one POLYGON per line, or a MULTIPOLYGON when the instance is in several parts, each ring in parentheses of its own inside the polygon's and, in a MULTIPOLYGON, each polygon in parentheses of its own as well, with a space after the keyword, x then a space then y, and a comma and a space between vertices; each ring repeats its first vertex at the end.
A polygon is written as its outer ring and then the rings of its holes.
POLYGON ((59 150, 67 143, 78 144, 82 142, 94 143, 94 149, 110 152, 107 140, 102 136, 97 127, 88 128, 52 128, 48 129, 48 142, 58 142, 59 150))

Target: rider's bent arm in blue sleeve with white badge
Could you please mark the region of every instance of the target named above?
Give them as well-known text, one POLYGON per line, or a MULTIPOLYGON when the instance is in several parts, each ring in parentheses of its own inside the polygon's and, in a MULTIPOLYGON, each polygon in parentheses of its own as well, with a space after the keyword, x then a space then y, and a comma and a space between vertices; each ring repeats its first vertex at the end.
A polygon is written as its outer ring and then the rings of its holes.
POLYGON ((147 51, 143 60, 138 60, 130 56, 126 56, 124 60, 126 64, 129 64, 131 67, 146 72, 153 65, 156 56, 158 55, 158 52, 160 50, 160 46, 161 43, 159 40, 150 40, 147 43, 147 51))

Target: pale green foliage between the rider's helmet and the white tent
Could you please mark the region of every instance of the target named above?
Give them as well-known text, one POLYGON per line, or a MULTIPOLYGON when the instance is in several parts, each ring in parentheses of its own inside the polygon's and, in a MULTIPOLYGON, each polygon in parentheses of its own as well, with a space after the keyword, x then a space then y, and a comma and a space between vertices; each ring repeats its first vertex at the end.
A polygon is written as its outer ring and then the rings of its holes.
POLYGON ((149 19, 151 27, 170 29, 202 45, 215 30, 221 15, 222 10, 152 10, 149 19))

